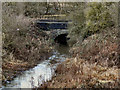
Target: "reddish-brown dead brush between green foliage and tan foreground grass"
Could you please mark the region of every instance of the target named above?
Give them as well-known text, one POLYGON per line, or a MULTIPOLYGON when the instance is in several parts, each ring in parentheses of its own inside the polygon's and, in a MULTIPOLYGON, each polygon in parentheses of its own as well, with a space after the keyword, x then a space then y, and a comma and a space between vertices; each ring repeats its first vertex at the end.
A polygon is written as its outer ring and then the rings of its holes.
MULTIPOLYGON (((118 29, 107 29, 100 34, 94 34, 85 39, 78 47, 71 49, 73 56, 79 56, 91 63, 103 66, 120 67, 118 29)), ((79 42, 78 42, 79 43, 79 42)))

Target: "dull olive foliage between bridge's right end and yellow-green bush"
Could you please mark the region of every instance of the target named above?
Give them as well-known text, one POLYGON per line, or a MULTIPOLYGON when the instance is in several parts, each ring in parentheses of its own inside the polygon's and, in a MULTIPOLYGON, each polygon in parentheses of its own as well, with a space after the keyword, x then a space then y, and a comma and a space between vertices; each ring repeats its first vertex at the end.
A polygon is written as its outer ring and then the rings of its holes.
POLYGON ((70 35, 79 35, 84 27, 85 15, 84 15, 84 3, 75 3, 76 10, 72 11, 70 18, 72 19, 72 25, 70 26, 70 35))

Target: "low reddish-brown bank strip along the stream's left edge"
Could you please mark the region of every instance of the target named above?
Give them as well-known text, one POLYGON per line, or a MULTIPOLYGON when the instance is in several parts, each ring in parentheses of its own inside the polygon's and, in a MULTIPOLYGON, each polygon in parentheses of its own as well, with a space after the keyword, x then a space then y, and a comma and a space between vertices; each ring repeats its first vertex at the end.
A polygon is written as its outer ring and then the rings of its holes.
POLYGON ((5 85, 13 80, 18 75, 21 75, 24 71, 35 67, 41 61, 48 59, 52 55, 52 49, 44 50, 43 53, 39 55, 39 60, 32 61, 22 61, 22 60, 11 60, 3 62, 2 64, 2 83, 5 85))

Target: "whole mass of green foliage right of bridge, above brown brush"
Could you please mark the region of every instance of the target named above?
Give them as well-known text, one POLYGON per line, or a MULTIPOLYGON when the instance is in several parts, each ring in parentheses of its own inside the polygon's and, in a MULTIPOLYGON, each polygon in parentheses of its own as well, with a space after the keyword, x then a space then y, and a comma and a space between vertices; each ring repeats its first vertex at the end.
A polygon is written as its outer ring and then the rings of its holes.
MULTIPOLYGON (((103 31, 107 27, 113 27, 117 24, 116 3, 109 2, 93 2, 79 3, 75 11, 71 11, 69 17, 72 19, 72 25, 69 28, 69 36, 71 38, 86 37, 103 31)), ((71 39, 72 40, 72 39, 71 39)), ((78 42, 78 40, 76 40, 78 42)))

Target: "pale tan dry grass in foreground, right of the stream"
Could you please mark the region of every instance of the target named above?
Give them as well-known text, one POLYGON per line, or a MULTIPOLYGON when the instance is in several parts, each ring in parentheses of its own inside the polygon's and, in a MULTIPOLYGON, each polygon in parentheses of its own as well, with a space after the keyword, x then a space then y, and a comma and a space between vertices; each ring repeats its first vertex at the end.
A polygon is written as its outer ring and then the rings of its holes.
POLYGON ((83 59, 71 58, 58 66, 57 76, 47 83, 47 87, 118 88, 119 70, 117 67, 108 68, 95 63, 90 64, 83 59))

